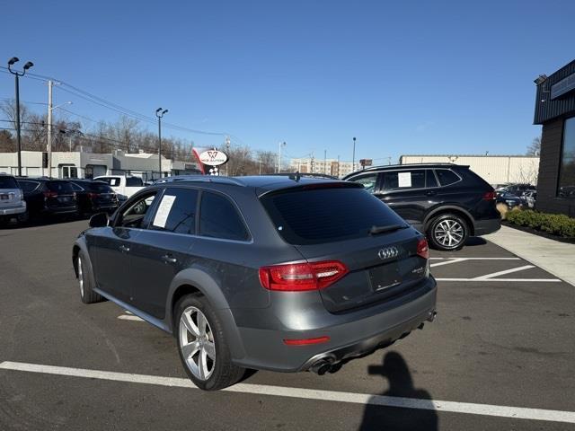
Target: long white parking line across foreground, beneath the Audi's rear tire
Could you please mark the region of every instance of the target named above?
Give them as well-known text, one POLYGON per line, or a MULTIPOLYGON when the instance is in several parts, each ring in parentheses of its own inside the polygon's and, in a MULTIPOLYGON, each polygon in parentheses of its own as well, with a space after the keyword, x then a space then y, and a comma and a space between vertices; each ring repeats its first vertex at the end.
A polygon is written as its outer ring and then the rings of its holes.
MULTIPOLYGON (((56 374, 89 379, 111 380, 127 383, 146 383, 161 386, 196 389, 189 379, 163 377, 159 375, 115 373, 110 371, 69 368, 65 366, 26 364, 22 362, 2 362, 0 369, 22 371, 28 373, 56 374)), ((491 404, 475 404, 471 402, 421 400, 415 398, 388 397, 385 395, 369 395, 367 393, 322 391, 303 388, 288 388, 285 386, 268 386, 263 384, 238 383, 224 391, 270 395, 275 397, 299 398, 306 400, 348 402, 353 404, 371 404, 383 407, 399 407, 404 409, 438 410, 471 415, 495 416, 499 418, 517 418, 566 422, 575 424, 575 411, 526 409, 523 407, 495 406, 491 404)))

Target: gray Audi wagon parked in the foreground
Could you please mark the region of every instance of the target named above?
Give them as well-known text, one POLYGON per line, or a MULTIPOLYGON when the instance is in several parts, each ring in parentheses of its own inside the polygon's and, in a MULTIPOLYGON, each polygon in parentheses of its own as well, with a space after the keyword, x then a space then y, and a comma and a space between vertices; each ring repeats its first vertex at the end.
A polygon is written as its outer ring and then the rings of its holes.
POLYGON ((172 333, 204 390, 245 369, 334 372, 436 314, 428 243, 358 183, 173 177, 90 226, 73 249, 82 301, 172 333))

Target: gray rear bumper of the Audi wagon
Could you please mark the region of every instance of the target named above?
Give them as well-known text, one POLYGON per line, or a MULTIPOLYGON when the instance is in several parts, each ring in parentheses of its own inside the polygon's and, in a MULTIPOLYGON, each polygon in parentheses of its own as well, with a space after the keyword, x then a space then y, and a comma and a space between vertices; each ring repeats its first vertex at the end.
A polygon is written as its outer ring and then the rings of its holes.
MULTIPOLYGON (((415 291, 368 309, 320 313, 305 322, 305 330, 282 328, 279 321, 276 321, 279 328, 274 330, 240 326, 238 332, 245 356, 234 357, 234 363, 246 368, 297 372, 322 361, 337 364, 351 357, 364 356, 403 338, 422 322, 432 320, 436 313, 436 296, 436 282, 429 277, 415 291), (320 337, 329 337, 329 341, 304 346, 284 343, 284 339, 320 337)), ((260 312, 263 311, 251 311, 252 314, 260 312)), ((273 322, 269 316, 264 320, 273 322)))

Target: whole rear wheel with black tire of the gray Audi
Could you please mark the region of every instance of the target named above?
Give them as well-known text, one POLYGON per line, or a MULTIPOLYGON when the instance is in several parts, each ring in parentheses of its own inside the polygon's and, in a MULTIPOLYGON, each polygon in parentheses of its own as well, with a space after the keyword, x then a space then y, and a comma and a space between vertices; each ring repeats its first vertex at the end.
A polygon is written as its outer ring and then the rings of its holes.
POLYGON ((174 311, 178 352, 190 380, 204 391, 217 391, 238 383, 245 369, 232 364, 222 321, 208 299, 186 295, 174 311))

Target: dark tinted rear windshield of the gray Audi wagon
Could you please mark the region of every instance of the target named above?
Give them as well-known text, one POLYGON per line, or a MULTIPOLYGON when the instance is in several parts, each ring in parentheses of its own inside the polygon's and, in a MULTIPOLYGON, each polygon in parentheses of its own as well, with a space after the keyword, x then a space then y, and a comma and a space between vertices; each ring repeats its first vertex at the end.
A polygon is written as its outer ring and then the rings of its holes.
POLYGON ((282 238, 305 245, 367 237, 372 226, 405 222, 365 189, 295 189, 261 198, 282 238))

